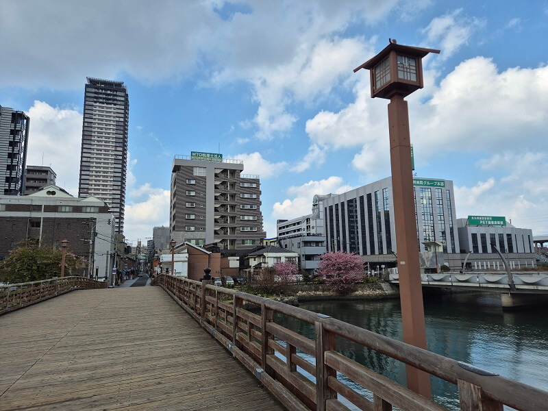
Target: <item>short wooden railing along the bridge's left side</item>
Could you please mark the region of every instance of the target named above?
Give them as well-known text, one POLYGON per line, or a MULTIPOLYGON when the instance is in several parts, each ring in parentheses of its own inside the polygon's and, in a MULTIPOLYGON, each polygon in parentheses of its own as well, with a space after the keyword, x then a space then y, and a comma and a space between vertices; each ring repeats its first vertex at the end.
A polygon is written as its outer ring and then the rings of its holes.
POLYGON ((107 288, 107 283, 73 276, 0 286, 0 315, 65 292, 90 288, 107 288))

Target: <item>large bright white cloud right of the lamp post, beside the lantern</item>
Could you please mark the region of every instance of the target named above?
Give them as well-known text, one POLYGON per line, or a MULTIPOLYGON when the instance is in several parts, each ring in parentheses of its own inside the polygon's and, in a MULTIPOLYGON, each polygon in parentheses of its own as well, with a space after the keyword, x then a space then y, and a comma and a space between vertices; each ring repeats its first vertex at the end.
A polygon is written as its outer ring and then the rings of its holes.
POLYGON ((548 66, 499 72, 492 60, 472 58, 442 80, 431 100, 410 105, 412 140, 428 155, 538 145, 547 107, 548 66))

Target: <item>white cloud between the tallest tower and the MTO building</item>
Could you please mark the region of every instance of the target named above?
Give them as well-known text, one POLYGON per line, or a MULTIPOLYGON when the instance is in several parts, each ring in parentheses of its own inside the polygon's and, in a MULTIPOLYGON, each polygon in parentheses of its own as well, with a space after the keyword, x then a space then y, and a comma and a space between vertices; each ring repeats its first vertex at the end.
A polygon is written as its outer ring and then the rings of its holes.
POLYGON ((128 240, 152 236, 152 227, 169 226, 169 190, 153 188, 149 183, 132 190, 140 199, 125 205, 124 235, 128 240))

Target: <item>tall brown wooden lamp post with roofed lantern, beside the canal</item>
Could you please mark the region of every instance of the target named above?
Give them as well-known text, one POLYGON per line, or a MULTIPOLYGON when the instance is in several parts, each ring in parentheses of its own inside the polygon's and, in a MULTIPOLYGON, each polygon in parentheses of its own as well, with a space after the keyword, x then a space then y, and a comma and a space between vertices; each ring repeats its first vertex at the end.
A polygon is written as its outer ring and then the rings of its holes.
MULTIPOLYGON (((403 98, 423 88, 422 58, 439 50, 390 44, 380 53, 354 69, 368 69, 371 77, 371 97, 390 99, 388 126, 390 164, 399 273, 399 295, 403 341, 426 349, 426 329, 419 263, 419 240, 416 238, 416 218, 411 167, 411 142, 407 101, 403 98)), ((407 385, 430 399, 429 374, 406 366, 407 385)))

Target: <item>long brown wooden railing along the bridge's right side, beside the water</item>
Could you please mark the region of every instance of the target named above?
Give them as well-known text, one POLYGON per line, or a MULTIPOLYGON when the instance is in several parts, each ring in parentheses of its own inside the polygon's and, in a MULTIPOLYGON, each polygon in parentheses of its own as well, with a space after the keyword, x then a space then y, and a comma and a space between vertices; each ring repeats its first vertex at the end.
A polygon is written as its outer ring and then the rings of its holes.
POLYGON ((456 384, 460 410, 503 410, 506 405, 534 411, 546 409, 548 404, 546 391, 323 314, 182 277, 160 275, 152 284, 162 286, 289 410, 349 410, 339 397, 368 411, 387 411, 393 406, 401 410, 446 410, 338 353, 336 337, 456 384), (276 312, 313 325, 315 338, 275 323, 276 312), (311 357, 315 363, 308 360, 311 357), (302 370, 314 378, 306 377, 302 370), (344 384, 340 374, 369 390, 371 398, 344 384))

